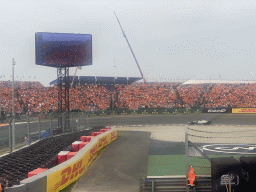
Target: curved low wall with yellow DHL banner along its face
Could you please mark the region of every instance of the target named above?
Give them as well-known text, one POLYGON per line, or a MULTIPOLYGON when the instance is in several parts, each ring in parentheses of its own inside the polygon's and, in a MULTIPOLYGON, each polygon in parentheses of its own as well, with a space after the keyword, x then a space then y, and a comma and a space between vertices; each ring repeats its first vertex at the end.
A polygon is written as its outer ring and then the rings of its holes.
POLYGON ((116 138, 116 129, 110 129, 92 138, 71 159, 21 181, 18 186, 6 188, 5 192, 58 192, 79 179, 97 157, 98 151, 116 138))

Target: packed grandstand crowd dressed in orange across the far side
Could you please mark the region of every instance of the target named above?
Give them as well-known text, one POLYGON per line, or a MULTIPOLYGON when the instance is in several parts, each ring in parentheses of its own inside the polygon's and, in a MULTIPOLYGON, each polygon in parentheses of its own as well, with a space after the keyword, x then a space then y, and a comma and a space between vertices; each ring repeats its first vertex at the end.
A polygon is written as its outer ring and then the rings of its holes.
MULTIPOLYGON (((12 109, 11 82, 0 82, 1 110, 12 109)), ((105 86, 84 85, 70 88, 70 110, 95 111, 117 108, 256 107, 256 84, 182 85, 147 83, 105 86)), ((56 111, 58 89, 38 82, 15 83, 17 113, 56 111)))

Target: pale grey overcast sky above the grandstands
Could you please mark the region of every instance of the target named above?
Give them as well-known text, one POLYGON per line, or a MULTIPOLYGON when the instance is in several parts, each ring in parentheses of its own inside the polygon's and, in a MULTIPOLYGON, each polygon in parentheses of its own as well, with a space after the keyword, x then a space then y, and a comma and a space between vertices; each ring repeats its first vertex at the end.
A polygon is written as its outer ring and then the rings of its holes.
POLYGON ((255 0, 9 0, 0 80, 11 80, 12 58, 16 80, 56 79, 55 68, 35 64, 36 32, 92 35, 93 65, 79 76, 139 77, 113 11, 148 81, 256 78, 255 0))

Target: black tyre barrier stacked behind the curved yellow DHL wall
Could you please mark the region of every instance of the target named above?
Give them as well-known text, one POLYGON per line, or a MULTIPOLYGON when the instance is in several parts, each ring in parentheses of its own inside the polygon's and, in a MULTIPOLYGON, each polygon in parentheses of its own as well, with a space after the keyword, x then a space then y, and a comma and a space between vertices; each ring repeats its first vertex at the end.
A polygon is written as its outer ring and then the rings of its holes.
POLYGON ((84 130, 65 135, 46 138, 37 143, 24 147, 19 151, 0 158, 0 183, 2 188, 19 185, 27 178, 28 173, 36 168, 50 169, 57 165, 59 151, 71 150, 71 143, 79 140, 81 135, 90 135, 103 127, 84 130))

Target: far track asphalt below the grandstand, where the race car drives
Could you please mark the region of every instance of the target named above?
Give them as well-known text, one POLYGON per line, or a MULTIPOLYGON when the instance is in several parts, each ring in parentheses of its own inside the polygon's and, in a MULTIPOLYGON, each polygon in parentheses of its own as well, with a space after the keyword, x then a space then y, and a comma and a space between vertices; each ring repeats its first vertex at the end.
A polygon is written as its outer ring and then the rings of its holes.
MULTIPOLYGON (((107 125, 156 125, 156 124, 186 124, 193 120, 211 120, 213 124, 228 125, 256 125, 256 114, 175 114, 175 115, 130 115, 130 116, 108 116, 89 118, 89 126, 107 126, 107 125)), ((41 130, 50 128, 50 121, 41 120, 41 130)), ((81 120, 81 126, 86 126, 86 121, 81 120)), ((74 123, 74 126, 76 124, 74 123)), ((52 122, 52 128, 57 127, 57 121, 52 122)), ((18 123, 15 125, 16 135, 25 134, 28 131, 27 123, 18 123)), ((37 121, 30 123, 30 132, 38 132, 37 121)), ((8 138, 9 126, 0 127, 0 139, 8 138)))

